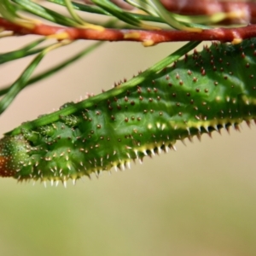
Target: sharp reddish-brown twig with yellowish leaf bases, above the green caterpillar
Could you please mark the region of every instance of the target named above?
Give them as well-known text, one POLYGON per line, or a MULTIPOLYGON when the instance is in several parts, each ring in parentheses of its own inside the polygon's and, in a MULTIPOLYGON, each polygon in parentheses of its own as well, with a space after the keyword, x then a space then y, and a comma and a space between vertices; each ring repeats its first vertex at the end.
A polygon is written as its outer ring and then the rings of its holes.
POLYGON ((32 25, 25 28, 0 18, 0 26, 6 31, 15 32, 17 35, 37 34, 53 36, 58 39, 85 39, 98 41, 137 41, 146 46, 165 42, 177 41, 212 41, 239 42, 241 39, 256 37, 256 25, 237 28, 212 28, 202 32, 185 32, 174 30, 122 30, 106 28, 102 31, 81 29, 76 27, 49 26, 44 24, 32 25))

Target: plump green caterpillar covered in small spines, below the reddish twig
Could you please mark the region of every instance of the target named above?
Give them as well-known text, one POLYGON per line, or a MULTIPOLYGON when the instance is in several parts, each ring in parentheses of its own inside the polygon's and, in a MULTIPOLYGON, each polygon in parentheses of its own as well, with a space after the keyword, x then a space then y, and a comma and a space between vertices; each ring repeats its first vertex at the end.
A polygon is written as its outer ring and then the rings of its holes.
POLYGON ((0 141, 0 176, 65 184, 123 169, 131 160, 173 148, 177 140, 255 121, 255 44, 254 38, 213 43, 142 84, 128 90, 117 85, 115 96, 106 92, 86 104, 67 103, 57 121, 20 125, 0 141))

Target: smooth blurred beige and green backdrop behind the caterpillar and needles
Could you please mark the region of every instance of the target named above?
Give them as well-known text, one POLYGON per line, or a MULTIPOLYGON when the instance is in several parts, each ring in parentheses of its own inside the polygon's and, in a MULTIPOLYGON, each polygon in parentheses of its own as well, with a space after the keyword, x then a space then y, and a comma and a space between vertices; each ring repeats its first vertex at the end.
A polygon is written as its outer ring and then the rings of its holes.
MULTIPOLYGON (((31 39, 5 38, 0 49, 31 39)), ((88 44, 55 50, 37 72, 88 44)), ((86 92, 108 90, 180 45, 104 44, 20 93, 1 116, 0 132, 86 92)), ((1 84, 14 81, 30 60, 1 66, 1 84)), ((216 132, 187 147, 177 143, 177 152, 111 176, 67 183, 67 189, 1 178, 0 255, 256 255, 255 131, 255 125, 243 125, 241 133, 216 132)))

